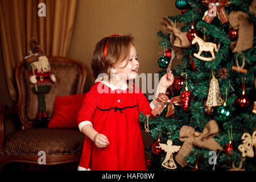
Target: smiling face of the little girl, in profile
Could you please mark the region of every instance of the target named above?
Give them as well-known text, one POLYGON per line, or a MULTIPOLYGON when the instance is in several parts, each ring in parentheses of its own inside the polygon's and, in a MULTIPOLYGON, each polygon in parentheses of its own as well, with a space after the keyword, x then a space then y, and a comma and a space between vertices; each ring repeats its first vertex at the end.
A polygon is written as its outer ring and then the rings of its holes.
POLYGON ((118 63, 114 66, 114 73, 119 78, 123 77, 126 80, 134 80, 137 77, 139 61, 136 48, 133 45, 131 45, 130 54, 129 57, 127 57, 127 59, 128 60, 122 61, 121 63, 118 63))

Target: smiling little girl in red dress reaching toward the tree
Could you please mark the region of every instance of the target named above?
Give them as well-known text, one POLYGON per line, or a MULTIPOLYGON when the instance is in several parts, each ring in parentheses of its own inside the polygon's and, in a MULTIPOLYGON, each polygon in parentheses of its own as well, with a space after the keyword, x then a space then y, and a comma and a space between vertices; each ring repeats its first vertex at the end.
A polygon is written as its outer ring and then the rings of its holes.
MULTIPOLYGON (((86 93, 77 118, 86 136, 78 170, 146 170, 139 113, 154 117, 151 111, 159 102, 149 103, 141 89, 127 84, 137 77, 139 68, 133 37, 112 35, 100 40, 91 65, 98 78, 86 93)), ((172 73, 166 73, 155 97, 166 93, 173 82, 172 73)))

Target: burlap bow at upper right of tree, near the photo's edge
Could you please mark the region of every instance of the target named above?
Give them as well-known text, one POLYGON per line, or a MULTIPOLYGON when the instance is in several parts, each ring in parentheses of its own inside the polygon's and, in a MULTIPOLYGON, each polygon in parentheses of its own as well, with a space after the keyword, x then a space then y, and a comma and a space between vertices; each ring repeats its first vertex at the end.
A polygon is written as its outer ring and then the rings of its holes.
POLYGON ((243 11, 231 11, 229 23, 238 30, 237 44, 232 52, 245 51, 253 47, 253 23, 249 21, 248 15, 243 11))

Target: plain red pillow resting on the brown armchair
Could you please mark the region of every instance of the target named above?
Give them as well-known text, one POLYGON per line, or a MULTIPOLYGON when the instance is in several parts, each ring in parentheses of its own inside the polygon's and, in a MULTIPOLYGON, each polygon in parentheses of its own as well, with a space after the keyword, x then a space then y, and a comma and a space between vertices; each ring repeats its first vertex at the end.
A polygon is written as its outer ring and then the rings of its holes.
POLYGON ((56 96, 53 117, 48 127, 77 128, 77 115, 82 107, 85 93, 72 96, 56 96))

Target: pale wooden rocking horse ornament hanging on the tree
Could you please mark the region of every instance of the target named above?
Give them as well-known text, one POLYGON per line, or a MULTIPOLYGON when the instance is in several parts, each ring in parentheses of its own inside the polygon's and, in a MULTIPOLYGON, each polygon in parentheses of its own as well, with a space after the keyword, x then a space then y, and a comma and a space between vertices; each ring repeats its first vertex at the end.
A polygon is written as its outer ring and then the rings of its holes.
POLYGON ((198 59, 204 60, 204 61, 212 61, 213 59, 215 59, 214 50, 216 52, 218 52, 216 44, 211 43, 211 42, 204 42, 203 39, 199 38, 199 36, 196 36, 196 35, 192 41, 192 44, 195 44, 195 43, 197 43, 199 45, 199 52, 194 53, 195 57, 197 57, 198 59), (210 52, 212 54, 212 57, 200 56, 203 51, 210 52))

